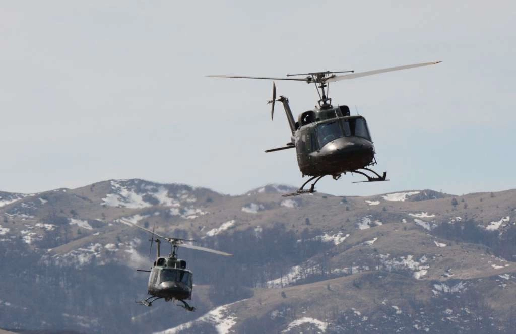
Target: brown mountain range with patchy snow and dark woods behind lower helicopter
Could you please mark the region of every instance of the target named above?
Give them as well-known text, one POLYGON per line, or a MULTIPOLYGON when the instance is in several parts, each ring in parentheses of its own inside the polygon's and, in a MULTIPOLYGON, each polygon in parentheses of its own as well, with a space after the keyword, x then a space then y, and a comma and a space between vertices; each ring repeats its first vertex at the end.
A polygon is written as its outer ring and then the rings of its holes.
POLYGON ((138 333, 510 333, 516 190, 453 196, 240 196, 145 180, 39 194, 0 192, 0 328, 138 333), (149 235, 180 249, 186 312, 146 296, 149 235))

